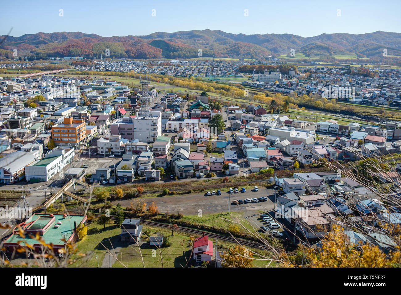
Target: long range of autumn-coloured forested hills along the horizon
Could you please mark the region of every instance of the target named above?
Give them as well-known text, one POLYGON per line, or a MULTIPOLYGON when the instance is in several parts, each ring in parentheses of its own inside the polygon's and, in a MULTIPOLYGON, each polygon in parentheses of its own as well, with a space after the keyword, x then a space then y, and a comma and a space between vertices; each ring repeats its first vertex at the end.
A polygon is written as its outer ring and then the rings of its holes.
MULTIPOLYGON (((2 36, 4 37, 4 36, 2 36)), ((14 48, 18 55, 38 57, 110 57, 136 59, 190 59, 199 57, 251 57, 289 55, 291 49, 305 57, 344 56, 380 59, 401 56, 401 34, 377 31, 367 34, 321 34, 301 37, 293 34, 231 34, 220 30, 155 32, 146 36, 102 37, 82 32, 56 32, 7 36, 0 55, 14 48), (201 51, 199 50, 201 49, 201 51)))

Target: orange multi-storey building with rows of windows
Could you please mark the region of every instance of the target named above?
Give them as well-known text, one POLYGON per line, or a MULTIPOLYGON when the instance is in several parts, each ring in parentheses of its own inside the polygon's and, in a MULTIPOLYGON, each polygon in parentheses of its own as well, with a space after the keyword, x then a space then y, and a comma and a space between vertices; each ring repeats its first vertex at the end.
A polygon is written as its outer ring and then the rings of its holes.
POLYGON ((64 118, 64 124, 53 126, 52 137, 55 145, 74 146, 79 149, 85 143, 86 127, 84 120, 64 118))

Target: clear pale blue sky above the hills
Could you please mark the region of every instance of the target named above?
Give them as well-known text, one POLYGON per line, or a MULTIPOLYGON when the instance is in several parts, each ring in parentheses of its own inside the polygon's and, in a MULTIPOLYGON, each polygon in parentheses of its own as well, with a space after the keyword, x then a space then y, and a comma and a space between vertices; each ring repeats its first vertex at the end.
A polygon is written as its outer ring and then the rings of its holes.
POLYGON ((358 0, 69 0, 2 1, 0 35, 85 32, 100 36, 146 35, 180 30, 233 34, 401 32, 401 1, 358 0), (63 9, 64 16, 59 16, 63 9), (156 16, 152 16, 152 9, 156 16), (244 10, 249 16, 244 16, 244 10), (341 16, 337 16, 340 9, 341 16))

